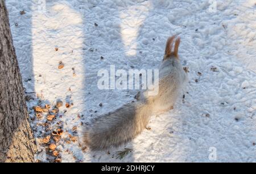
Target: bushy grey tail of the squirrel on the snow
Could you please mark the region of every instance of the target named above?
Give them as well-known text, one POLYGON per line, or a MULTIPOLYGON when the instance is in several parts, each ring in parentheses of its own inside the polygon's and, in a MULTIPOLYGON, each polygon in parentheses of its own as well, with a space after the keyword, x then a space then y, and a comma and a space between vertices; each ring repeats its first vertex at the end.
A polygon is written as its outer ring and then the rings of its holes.
POLYGON ((149 103, 132 102, 102 115, 84 133, 84 142, 91 150, 118 147, 135 138, 147 125, 151 114, 149 103))

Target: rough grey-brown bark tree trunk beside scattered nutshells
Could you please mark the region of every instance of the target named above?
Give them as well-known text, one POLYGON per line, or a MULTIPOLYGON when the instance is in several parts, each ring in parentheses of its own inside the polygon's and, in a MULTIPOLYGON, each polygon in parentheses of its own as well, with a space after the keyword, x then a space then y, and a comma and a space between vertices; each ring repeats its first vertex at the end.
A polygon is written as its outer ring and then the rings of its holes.
POLYGON ((0 0, 0 162, 32 162, 35 152, 8 13, 0 0))

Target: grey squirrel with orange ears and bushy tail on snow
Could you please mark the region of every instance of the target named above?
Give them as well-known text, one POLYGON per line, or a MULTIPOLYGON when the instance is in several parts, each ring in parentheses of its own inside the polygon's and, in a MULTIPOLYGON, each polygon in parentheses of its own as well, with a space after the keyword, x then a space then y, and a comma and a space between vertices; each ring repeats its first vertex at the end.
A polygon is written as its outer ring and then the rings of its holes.
POLYGON ((176 35, 167 40, 163 62, 159 68, 158 94, 149 96, 146 91, 142 96, 139 95, 137 102, 127 103, 94 120, 92 126, 86 127, 87 130, 83 133, 86 146, 92 151, 118 147, 140 134, 152 114, 173 109, 179 92, 187 81, 187 74, 178 56, 179 44, 180 37, 176 38, 176 35))

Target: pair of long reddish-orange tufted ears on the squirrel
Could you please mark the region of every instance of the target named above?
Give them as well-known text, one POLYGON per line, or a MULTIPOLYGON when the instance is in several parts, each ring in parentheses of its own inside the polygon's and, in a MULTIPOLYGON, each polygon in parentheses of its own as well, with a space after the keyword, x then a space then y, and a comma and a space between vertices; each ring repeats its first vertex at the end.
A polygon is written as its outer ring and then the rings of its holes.
POLYGON ((168 38, 168 40, 166 42, 166 52, 165 52, 165 55, 164 55, 164 59, 168 59, 168 57, 170 57, 170 56, 175 56, 176 58, 178 58, 180 37, 178 37, 175 40, 174 51, 172 51, 172 47, 173 47, 175 38, 176 38, 176 35, 171 36, 170 38, 168 38))

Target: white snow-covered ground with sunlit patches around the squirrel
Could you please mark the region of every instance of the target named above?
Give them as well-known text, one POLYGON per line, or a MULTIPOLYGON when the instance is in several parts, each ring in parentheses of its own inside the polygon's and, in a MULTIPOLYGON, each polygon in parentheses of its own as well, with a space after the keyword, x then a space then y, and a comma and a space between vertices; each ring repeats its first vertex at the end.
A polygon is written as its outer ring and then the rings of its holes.
MULTIPOLYGON (((30 117, 40 103, 73 103, 61 107, 63 117, 51 128, 60 122, 74 136, 74 126, 81 134, 81 122, 133 101, 137 93, 98 89, 100 69, 155 69, 168 36, 181 37, 180 59, 189 67, 184 100, 181 94, 174 110, 152 116, 150 130, 109 153, 82 151, 63 135, 57 144, 62 161, 118 162, 115 152, 125 147, 133 152, 123 162, 256 161, 255 1, 216 2, 216 13, 208 1, 163 0, 46 1, 42 12, 36 0, 6 0, 23 85, 35 92, 27 102, 30 117), (216 160, 209 158, 212 150, 216 160)), ((45 117, 31 121, 37 139, 48 134, 39 126, 45 117)))

